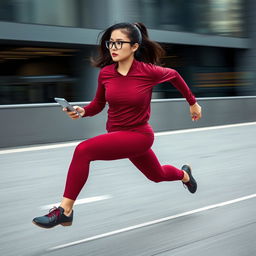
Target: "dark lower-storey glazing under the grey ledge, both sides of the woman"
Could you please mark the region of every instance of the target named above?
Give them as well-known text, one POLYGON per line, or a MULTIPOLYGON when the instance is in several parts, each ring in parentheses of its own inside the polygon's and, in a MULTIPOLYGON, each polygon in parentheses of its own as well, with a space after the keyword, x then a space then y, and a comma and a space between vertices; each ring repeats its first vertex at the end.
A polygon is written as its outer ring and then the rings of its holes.
MULTIPOLYGON (((240 50, 164 44, 164 66, 177 70, 197 97, 237 96, 251 90, 248 72, 236 67, 240 50)), ((98 69, 90 66, 95 46, 80 48, 0 46, 0 104, 90 101, 98 69)), ((180 98, 169 83, 154 87, 153 98, 180 98)))

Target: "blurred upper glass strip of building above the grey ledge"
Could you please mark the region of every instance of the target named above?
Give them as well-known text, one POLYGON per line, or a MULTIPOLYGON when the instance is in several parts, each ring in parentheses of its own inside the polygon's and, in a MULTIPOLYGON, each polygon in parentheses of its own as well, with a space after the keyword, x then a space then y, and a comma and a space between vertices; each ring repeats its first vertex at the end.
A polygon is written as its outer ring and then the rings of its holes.
POLYGON ((141 21, 151 29, 246 37, 243 0, 1 0, 0 20, 104 29, 141 21))

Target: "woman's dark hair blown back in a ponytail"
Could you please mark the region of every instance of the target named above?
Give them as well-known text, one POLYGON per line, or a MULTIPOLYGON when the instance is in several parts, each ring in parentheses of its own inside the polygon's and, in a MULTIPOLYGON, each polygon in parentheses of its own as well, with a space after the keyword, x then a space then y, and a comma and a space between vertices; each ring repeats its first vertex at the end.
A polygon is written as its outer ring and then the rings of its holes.
POLYGON ((114 63, 109 50, 105 46, 105 41, 110 39, 112 31, 116 29, 121 29, 122 32, 126 33, 133 44, 138 43, 140 45, 134 55, 136 60, 160 64, 160 59, 164 56, 165 51, 160 44, 149 39, 145 25, 143 23, 132 24, 124 22, 112 25, 102 32, 103 35, 101 36, 98 49, 99 54, 96 58, 91 59, 93 66, 103 68, 114 63))

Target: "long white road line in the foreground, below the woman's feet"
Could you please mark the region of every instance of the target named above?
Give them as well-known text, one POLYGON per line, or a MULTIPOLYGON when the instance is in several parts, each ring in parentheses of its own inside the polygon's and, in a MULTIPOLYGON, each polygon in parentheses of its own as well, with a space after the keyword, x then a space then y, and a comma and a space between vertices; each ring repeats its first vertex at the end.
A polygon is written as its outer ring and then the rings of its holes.
POLYGON ((155 225, 155 224, 162 223, 162 222, 165 222, 165 221, 168 221, 168 220, 177 219, 177 218, 180 218, 180 217, 192 215, 192 214, 195 214, 195 213, 198 213, 198 212, 203 212, 203 211, 207 211, 207 210, 214 209, 214 208, 217 208, 217 207, 222 207, 222 206, 238 203, 238 202, 248 200, 248 199, 252 199, 252 198, 255 198, 255 197, 256 197, 256 194, 252 194, 252 195, 248 195, 248 196, 244 196, 244 197, 239 197, 237 199, 225 201, 225 202, 222 202, 222 203, 208 205, 208 206, 198 208, 198 209, 195 209, 195 210, 192 210, 192 211, 187 211, 187 212, 183 212, 183 213, 180 213, 180 214, 168 216, 168 217, 165 217, 165 218, 145 222, 145 223, 142 223, 142 224, 138 224, 138 225, 134 225, 134 226, 114 230, 114 231, 103 233, 103 234, 100 234, 100 235, 96 235, 96 236, 88 237, 88 238, 85 238, 85 239, 77 240, 77 241, 74 241, 74 242, 71 242, 71 243, 58 245, 58 246, 49 248, 47 251, 55 251, 55 250, 58 250, 58 249, 63 249, 63 248, 67 248, 67 247, 70 247, 70 246, 74 246, 74 245, 94 241, 94 240, 101 239, 101 238, 104 238, 104 237, 109 237, 109 236, 113 236, 113 235, 116 235, 116 234, 128 232, 128 231, 131 231, 131 230, 135 230, 135 229, 155 225))

